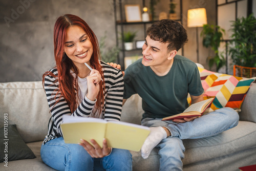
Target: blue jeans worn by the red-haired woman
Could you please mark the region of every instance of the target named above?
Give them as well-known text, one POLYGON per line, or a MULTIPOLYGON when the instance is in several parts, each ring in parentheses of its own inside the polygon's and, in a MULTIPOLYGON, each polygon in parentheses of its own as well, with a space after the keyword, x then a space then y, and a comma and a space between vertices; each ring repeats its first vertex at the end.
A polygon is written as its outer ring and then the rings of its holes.
POLYGON ((132 170, 132 155, 125 149, 113 148, 109 156, 92 158, 79 144, 66 144, 62 137, 41 146, 45 164, 57 170, 132 170))

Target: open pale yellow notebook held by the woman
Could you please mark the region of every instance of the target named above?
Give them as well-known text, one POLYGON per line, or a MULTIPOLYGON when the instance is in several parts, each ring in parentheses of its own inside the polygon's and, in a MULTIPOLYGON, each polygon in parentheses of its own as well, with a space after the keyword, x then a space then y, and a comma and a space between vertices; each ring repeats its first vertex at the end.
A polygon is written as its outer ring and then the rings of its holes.
POLYGON ((64 116, 60 125, 65 143, 78 143, 91 139, 102 147, 103 138, 109 147, 140 151, 150 134, 147 126, 127 122, 105 121, 98 118, 64 116))

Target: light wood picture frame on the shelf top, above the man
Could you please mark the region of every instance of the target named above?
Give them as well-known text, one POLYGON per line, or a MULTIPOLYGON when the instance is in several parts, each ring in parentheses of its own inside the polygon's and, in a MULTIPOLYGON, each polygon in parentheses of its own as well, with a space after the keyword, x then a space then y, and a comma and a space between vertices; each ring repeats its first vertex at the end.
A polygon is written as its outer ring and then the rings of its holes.
POLYGON ((140 5, 124 5, 126 22, 141 22, 140 5))

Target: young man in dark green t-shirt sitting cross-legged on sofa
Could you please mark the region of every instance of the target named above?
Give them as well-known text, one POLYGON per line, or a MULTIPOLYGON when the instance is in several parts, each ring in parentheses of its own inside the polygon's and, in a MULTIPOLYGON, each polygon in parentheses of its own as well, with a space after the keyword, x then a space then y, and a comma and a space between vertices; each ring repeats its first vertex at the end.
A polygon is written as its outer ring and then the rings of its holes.
POLYGON ((182 139, 214 136, 236 126, 239 120, 233 109, 222 108, 199 118, 162 121, 188 107, 188 93, 192 103, 203 100, 196 64, 177 55, 186 41, 182 25, 170 19, 160 20, 147 29, 143 58, 125 70, 123 103, 138 93, 144 110, 141 124, 151 130, 141 155, 146 159, 158 147, 160 170, 182 170, 185 151, 182 139))

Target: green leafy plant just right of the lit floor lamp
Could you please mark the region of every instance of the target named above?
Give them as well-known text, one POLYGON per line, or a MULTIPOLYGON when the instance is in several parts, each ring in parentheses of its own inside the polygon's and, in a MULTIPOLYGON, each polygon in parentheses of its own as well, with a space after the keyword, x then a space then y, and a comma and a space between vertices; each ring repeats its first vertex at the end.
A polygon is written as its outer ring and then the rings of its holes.
POLYGON ((214 64, 216 64, 216 71, 225 65, 225 58, 218 50, 224 33, 225 30, 220 26, 208 24, 203 26, 201 36, 203 37, 203 46, 209 48, 207 62, 210 70, 214 64), (214 56, 210 55, 210 50, 214 50, 214 56))

